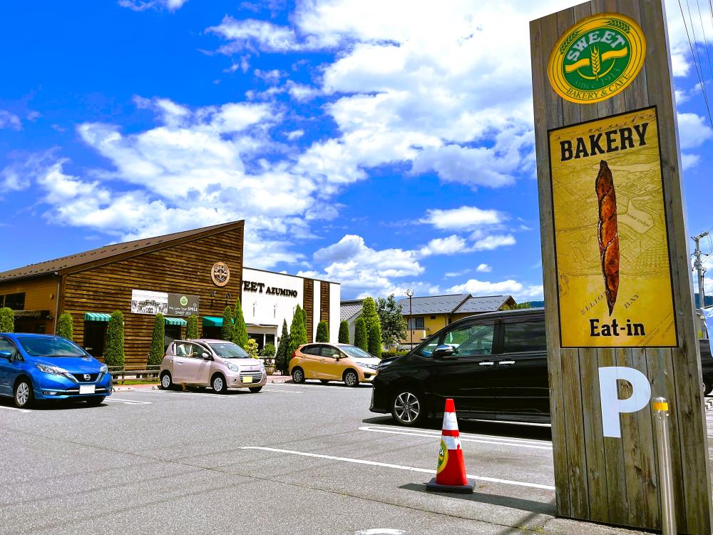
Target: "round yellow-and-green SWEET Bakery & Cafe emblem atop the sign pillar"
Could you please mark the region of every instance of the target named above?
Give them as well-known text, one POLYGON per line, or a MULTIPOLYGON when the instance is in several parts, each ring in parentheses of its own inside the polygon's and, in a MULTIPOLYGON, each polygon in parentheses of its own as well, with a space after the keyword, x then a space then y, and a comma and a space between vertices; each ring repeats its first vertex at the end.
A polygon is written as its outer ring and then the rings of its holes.
POLYGON ((646 56, 644 32, 618 13, 582 19, 550 52, 547 73, 559 96, 578 104, 605 101, 634 81, 646 56))

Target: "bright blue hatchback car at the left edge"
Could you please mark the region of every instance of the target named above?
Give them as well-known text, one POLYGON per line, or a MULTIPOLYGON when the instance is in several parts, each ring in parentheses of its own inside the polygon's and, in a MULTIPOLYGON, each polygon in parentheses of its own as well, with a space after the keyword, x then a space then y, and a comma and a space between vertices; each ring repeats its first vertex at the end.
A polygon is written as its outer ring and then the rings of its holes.
POLYGON ((0 396, 17 407, 36 399, 98 405, 111 394, 111 374, 74 342, 51 335, 0 333, 0 396))

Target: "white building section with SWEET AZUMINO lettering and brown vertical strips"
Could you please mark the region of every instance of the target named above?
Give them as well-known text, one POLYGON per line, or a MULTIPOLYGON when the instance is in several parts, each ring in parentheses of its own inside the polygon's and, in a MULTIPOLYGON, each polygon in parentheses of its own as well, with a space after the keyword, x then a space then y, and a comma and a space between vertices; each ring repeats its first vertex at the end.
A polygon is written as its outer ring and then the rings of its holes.
POLYGON ((247 333, 261 348, 266 344, 277 346, 282 322, 287 321, 289 330, 297 305, 307 315, 309 342, 314 341, 320 321, 328 322, 329 341, 337 342, 341 296, 338 282, 243 267, 241 291, 247 333))

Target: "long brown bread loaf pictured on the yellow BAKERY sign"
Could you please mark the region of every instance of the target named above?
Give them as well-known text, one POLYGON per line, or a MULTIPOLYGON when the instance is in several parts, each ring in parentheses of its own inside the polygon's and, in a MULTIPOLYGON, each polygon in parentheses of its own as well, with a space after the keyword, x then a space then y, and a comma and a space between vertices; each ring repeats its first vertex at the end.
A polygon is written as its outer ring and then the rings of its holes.
POLYGON ((619 291, 619 230, 614 177, 605 160, 600 162, 595 188, 599 200, 599 254, 609 315, 612 315, 619 291))

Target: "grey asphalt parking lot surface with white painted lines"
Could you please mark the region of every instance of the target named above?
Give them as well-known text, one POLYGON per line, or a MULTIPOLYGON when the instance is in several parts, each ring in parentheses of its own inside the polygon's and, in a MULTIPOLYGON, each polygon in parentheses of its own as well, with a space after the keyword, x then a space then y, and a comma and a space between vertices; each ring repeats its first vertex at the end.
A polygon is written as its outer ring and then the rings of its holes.
POLYGON ((550 428, 461 422, 472 496, 426 494, 440 425, 369 412, 371 387, 116 392, 0 402, 0 533, 627 533, 554 519, 550 428))

